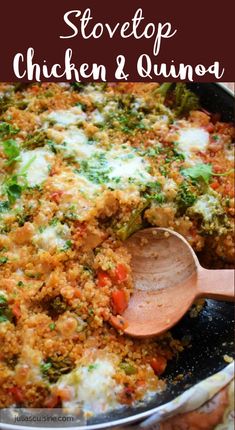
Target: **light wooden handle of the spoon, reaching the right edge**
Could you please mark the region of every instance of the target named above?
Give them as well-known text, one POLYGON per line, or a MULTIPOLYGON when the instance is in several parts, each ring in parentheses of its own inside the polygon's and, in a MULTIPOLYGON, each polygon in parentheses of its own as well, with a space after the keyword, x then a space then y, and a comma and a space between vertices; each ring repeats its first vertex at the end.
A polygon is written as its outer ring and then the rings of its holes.
POLYGON ((207 270, 198 273, 198 296, 234 301, 234 270, 207 270))

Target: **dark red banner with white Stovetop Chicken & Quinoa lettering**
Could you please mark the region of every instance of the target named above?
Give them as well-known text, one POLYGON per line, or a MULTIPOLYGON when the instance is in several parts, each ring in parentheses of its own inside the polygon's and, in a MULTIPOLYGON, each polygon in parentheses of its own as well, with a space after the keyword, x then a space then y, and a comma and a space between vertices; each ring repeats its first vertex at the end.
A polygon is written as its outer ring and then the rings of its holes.
POLYGON ((234 81, 234 2, 1 6, 1 81, 234 81))

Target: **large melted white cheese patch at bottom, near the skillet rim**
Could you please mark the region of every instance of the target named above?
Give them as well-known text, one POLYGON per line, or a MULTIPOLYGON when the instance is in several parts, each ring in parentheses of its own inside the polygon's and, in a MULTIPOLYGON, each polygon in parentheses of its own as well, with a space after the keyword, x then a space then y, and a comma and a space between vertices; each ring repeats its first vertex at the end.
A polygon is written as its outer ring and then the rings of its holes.
POLYGON ((73 398, 63 402, 66 408, 73 408, 77 403, 83 405, 85 415, 107 412, 120 406, 116 393, 120 390, 113 379, 115 368, 107 359, 96 359, 91 366, 82 366, 68 375, 63 376, 58 383, 60 388, 71 387, 73 398))

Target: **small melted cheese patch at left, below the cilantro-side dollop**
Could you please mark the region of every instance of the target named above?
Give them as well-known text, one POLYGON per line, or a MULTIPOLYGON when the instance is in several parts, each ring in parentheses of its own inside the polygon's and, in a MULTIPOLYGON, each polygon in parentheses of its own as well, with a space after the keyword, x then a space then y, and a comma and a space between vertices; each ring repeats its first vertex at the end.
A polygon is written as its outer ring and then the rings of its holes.
POLYGON ((66 224, 51 225, 33 237, 33 243, 41 249, 63 249, 70 238, 70 230, 66 224))

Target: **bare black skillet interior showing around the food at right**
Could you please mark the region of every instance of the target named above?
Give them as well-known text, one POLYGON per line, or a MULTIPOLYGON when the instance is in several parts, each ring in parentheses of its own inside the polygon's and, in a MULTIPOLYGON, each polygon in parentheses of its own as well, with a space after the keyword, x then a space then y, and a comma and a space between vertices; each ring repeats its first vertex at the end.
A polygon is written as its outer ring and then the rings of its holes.
MULTIPOLYGON (((234 97, 215 83, 188 84, 200 97, 201 105, 213 113, 220 113, 221 120, 234 120, 234 97)), ((191 347, 187 347, 178 358, 171 361, 164 377, 167 388, 156 394, 151 401, 138 407, 130 407, 120 411, 95 417, 88 421, 89 425, 110 423, 127 417, 151 411, 163 405, 187 388, 223 369, 227 363, 223 356, 234 356, 234 305, 227 302, 207 300, 203 310, 196 318, 189 314, 171 330, 175 338, 187 336, 191 347), (179 379, 177 381, 177 378, 179 379)))

